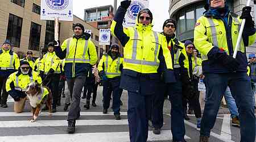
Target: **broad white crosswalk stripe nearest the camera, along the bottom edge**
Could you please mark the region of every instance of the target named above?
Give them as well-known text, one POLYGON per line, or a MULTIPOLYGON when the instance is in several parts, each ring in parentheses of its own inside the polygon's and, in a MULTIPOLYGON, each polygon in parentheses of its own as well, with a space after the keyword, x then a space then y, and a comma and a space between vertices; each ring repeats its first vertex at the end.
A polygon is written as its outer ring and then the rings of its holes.
MULTIPOLYGON (((68 142, 68 141, 86 141, 86 142, 126 142, 129 140, 129 132, 97 132, 97 133, 75 133, 75 134, 54 134, 54 135, 28 135, 28 136, 3 136, 0 141, 5 142, 68 142), (40 139, 43 138, 43 139, 40 139)), ((155 135, 152 131, 148 132, 148 141, 163 141, 171 140, 172 135, 170 130, 161 131, 160 135, 155 135)), ((185 136, 185 139, 191 139, 185 136)))

